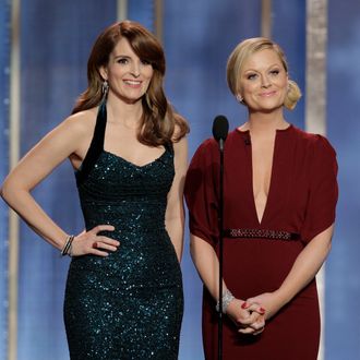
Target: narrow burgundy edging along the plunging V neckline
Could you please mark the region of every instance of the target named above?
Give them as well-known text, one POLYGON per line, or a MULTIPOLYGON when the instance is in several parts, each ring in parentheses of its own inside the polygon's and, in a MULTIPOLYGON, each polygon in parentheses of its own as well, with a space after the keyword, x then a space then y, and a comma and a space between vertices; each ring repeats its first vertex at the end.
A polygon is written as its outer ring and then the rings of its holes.
POLYGON ((237 129, 237 131, 244 137, 244 145, 247 146, 248 149, 248 159, 249 159, 249 179, 250 179, 250 184, 249 184, 249 189, 250 189, 250 197, 251 197, 251 206, 252 206, 252 212, 254 214, 254 218, 256 219, 256 224, 257 226, 263 226, 266 217, 267 217, 267 213, 268 213, 268 208, 272 204, 272 194, 273 194, 273 188, 274 188, 274 177, 276 173, 276 166, 277 166, 277 153, 278 153, 278 135, 279 133, 286 132, 288 131, 290 128, 292 128, 291 124, 289 124, 286 129, 276 129, 275 132, 275 139, 274 139, 274 145, 273 145, 273 158, 272 158, 272 169, 271 169, 271 178, 269 178, 269 184, 268 184, 268 192, 267 192, 267 197, 266 197, 266 202, 265 202, 265 206, 264 206, 264 212, 262 217, 260 218, 259 216, 259 212, 257 212, 257 207, 256 207, 256 202, 255 202, 255 193, 254 193, 254 175, 253 175, 253 152, 252 152, 252 144, 251 144, 251 133, 250 130, 240 130, 237 129))

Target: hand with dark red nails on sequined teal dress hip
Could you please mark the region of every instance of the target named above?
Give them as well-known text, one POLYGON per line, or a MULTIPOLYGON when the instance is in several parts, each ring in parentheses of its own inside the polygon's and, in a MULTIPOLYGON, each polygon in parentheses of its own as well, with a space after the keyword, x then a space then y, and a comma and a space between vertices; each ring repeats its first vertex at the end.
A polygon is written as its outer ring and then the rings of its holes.
POLYGON ((113 252, 118 250, 120 242, 108 237, 98 233, 100 231, 113 231, 115 227, 112 225, 98 225, 89 231, 83 231, 72 241, 71 245, 71 256, 82 256, 82 255, 97 255, 97 256, 108 256, 109 251, 113 252))

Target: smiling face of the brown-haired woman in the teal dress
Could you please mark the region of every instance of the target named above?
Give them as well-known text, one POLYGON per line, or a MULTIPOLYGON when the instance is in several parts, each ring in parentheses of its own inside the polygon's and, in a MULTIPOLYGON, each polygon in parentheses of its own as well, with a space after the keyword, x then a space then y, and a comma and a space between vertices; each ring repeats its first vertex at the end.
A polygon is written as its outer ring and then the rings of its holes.
POLYGON ((141 60, 122 37, 109 56, 101 76, 109 83, 109 94, 113 93, 125 103, 136 103, 146 93, 153 77, 153 67, 141 60))

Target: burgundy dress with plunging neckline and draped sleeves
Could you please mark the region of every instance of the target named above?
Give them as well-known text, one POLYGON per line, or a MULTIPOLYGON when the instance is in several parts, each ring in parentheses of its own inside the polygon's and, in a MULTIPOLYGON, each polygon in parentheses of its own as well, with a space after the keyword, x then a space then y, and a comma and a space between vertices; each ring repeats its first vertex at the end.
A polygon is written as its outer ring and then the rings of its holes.
MULTIPOLYGON (((293 125, 278 130, 261 223, 253 196, 248 131, 229 133, 224 158, 224 279, 237 298, 247 299, 279 288, 307 243, 334 223, 336 154, 321 135, 293 125)), ((219 151, 212 139, 192 158, 185 199, 191 233, 216 251, 218 179, 219 151)), ((224 322, 224 360, 315 360, 320 339, 315 279, 266 323, 261 335, 241 335, 227 316, 224 322)), ((217 359, 217 313, 206 289, 203 341, 205 358, 217 359)))

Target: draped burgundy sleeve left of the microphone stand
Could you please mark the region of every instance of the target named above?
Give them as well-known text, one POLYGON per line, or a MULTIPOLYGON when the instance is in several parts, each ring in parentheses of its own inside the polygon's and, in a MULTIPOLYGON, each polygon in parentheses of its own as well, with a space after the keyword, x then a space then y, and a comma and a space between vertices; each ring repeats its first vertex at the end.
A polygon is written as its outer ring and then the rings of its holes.
POLYGON ((184 196, 190 232, 215 247, 218 239, 219 154, 214 140, 195 152, 187 173, 184 196))

